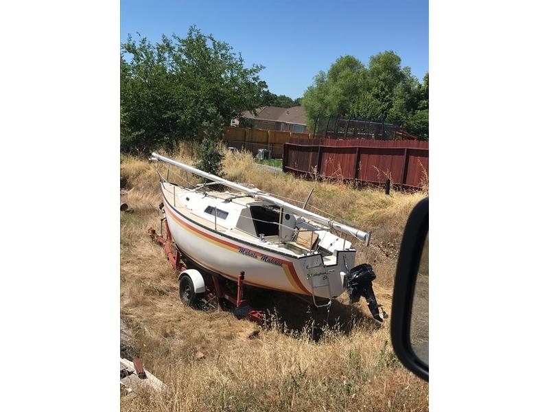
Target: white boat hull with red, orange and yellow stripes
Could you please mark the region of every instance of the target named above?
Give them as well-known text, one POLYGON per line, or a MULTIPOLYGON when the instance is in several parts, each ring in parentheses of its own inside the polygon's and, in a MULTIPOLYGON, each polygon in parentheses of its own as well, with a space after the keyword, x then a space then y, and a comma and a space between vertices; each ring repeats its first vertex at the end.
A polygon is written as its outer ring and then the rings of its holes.
POLYGON ((200 225, 167 198, 164 211, 180 250, 199 266, 227 279, 236 280, 244 271, 245 284, 301 295, 313 295, 314 290, 316 297, 331 298, 345 290, 344 275, 354 266, 355 251, 340 251, 336 264, 323 266, 318 253, 295 258, 200 225))

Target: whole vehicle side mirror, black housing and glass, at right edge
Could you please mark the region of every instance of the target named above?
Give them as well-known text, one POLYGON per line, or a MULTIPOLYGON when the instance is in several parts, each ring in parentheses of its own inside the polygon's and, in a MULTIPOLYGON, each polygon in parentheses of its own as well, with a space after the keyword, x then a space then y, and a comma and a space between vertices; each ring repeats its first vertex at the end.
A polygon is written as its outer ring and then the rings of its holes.
POLYGON ((429 198, 412 209, 400 247, 390 336, 401 363, 429 381, 429 198))

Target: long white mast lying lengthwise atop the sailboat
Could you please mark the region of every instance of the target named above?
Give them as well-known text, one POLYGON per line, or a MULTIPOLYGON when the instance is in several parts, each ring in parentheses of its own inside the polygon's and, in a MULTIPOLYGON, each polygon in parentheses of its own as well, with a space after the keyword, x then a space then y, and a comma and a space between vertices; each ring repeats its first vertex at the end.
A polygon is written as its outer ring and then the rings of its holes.
POLYGON ((186 165, 185 163, 180 163, 178 161, 172 160, 168 157, 164 157, 159 155, 158 153, 152 153, 151 159, 152 161, 163 161, 164 163, 168 163, 170 165, 174 165, 178 168, 181 168, 183 170, 187 170, 191 173, 196 174, 197 176, 202 176, 205 179, 208 179, 209 181, 220 183, 226 187, 231 187, 233 190, 237 190, 239 192, 248 193, 250 195, 255 196, 256 198, 259 198, 263 201, 267 201, 269 203, 273 203, 274 205, 277 205, 279 207, 283 207, 286 210, 292 211, 295 214, 299 214, 309 220, 312 220, 314 222, 320 223, 320 225, 324 225, 326 227, 330 227, 331 229, 336 229, 338 231, 341 231, 343 233, 347 233, 351 236, 354 236, 358 240, 361 240, 362 242, 365 242, 366 245, 370 243, 370 232, 365 232, 359 229, 355 229, 353 227, 344 225, 340 222, 336 222, 336 220, 328 219, 323 216, 320 216, 316 213, 313 213, 312 211, 308 211, 305 209, 301 209, 301 207, 297 207, 292 205, 291 203, 286 203, 284 201, 281 201, 279 198, 275 198, 273 196, 270 196, 268 193, 261 192, 259 189, 250 189, 250 187, 246 187, 243 185, 239 185, 238 183, 234 183, 231 181, 228 181, 226 179, 223 179, 222 177, 215 176, 215 174, 210 174, 207 172, 203 172, 200 169, 193 168, 192 166, 186 165))

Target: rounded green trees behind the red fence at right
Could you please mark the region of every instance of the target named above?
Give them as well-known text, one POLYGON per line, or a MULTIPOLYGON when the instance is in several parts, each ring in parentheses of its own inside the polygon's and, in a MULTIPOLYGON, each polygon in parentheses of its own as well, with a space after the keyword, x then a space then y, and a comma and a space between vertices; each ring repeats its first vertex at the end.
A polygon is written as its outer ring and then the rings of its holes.
POLYGON ((342 115, 385 119, 428 138, 428 84, 428 73, 419 83, 409 67, 401 67, 395 52, 371 56, 368 67, 353 56, 342 56, 327 73, 318 73, 301 103, 310 129, 318 114, 320 130, 329 115, 342 115))

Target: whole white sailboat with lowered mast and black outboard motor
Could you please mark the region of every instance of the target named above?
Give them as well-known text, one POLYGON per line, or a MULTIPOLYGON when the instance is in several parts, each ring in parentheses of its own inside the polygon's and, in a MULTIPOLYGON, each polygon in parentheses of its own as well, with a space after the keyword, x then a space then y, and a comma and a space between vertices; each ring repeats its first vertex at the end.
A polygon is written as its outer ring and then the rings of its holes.
POLYGON ((237 282, 245 272, 246 284, 309 297, 317 307, 329 306, 342 293, 351 302, 362 296, 374 319, 387 317, 373 293, 372 266, 355 266, 356 249, 347 240, 369 244, 369 232, 157 153, 151 160, 206 182, 176 184, 156 168, 167 227, 178 251, 200 269, 191 273, 185 287, 192 290, 183 294, 205 292, 202 274, 237 282))

